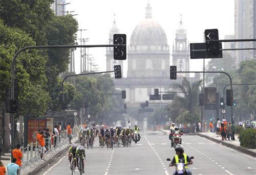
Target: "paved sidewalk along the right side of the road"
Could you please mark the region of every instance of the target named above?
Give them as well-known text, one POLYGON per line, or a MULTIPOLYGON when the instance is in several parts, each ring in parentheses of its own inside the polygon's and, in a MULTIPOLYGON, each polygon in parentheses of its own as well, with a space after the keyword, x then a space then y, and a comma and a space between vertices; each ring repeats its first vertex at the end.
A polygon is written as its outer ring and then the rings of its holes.
MULTIPOLYGON (((168 130, 161 130, 163 133, 165 134, 169 134, 168 130)), ((191 134, 184 134, 184 135, 198 135, 204 138, 207 138, 211 141, 217 142, 217 143, 221 143, 222 145, 225 145, 227 147, 231 147, 233 149, 237 149, 238 151, 242 152, 242 153, 246 153, 248 155, 251 155, 253 157, 256 157, 256 149, 247 149, 245 147, 240 146, 240 141, 238 139, 238 135, 234 135, 234 139, 235 140, 221 140, 221 137, 217 137, 216 133, 210 133, 210 132, 206 132, 206 133, 191 133, 191 134)))

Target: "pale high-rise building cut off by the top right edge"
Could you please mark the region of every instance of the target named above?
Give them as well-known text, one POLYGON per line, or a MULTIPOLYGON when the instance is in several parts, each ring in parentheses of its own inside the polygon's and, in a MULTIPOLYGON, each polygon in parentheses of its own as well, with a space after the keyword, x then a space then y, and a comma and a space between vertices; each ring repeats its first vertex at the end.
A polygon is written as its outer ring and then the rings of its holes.
MULTIPOLYGON (((256 38, 256 0, 234 1, 235 39, 256 38)), ((236 48, 256 48, 256 42, 236 42, 236 48)), ((236 51, 236 64, 256 59, 255 50, 236 51)))

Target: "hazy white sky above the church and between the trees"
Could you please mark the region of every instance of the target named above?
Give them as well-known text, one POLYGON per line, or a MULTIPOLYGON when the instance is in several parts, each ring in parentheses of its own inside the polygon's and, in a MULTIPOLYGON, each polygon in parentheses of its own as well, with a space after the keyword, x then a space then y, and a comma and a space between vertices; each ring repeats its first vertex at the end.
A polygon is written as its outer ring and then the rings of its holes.
MULTIPOLYGON (((148 0, 66 0, 66 3, 71 3, 66 6, 66 10, 78 14, 74 17, 78 20, 79 29, 88 29, 82 32, 82 38, 90 38, 87 44, 107 43, 115 13, 117 27, 120 33, 126 34, 129 44, 134 28, 145 17, 147 2, 148 0)), ((205 29, 218 29, 220 39, 234 34, 234 0, 150 0, 150 4, 152 16, 164 29, 170 48, 173 47, 175 32, 179 27, 180 14, 190 43, 203 42, 205 29)), ((80 31, 77 36, 80 39, 80 31)), ((100 70, 106 69, 105 50, 103 47, 89 50, 100 70)), ((202 70, 202 65, 201 59, 190 60, 190 70, 202 70)), ((124 61, 124 76, 126 66, 127 60, 124 61)), ((75 54, 75 71, 80 72, 80 48, 75 54)))

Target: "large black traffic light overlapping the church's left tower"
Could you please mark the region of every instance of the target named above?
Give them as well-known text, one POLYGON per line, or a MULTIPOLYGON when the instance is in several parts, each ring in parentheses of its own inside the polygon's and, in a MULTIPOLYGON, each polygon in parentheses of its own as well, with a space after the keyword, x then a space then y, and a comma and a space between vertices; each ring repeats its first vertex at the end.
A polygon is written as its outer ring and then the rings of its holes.
POLYGON ((125 44, 125 46, 114 46, 114 59, 115 60, 126 60, 126 35, 125 34, 114 34, 114 44, 125 44))

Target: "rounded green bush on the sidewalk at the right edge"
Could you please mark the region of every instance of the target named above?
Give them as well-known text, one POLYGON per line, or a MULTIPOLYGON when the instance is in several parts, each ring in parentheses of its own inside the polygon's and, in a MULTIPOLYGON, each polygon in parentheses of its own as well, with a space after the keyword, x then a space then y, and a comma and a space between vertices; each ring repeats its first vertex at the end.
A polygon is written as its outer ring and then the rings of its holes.
POLYGON ((240 145, 255 149, 256 148, 256 130, 250 128, 242 130, 239 134, 240 145))

